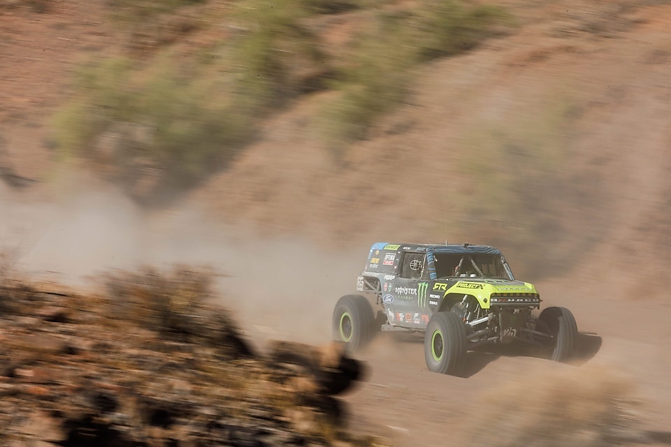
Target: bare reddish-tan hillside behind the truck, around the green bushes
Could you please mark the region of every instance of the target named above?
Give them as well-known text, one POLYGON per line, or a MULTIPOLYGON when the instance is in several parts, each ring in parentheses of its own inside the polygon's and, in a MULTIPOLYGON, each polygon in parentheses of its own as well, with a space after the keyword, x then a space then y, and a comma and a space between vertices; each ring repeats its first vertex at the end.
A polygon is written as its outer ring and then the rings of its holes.
MULTIPOLYGON (((102 3, 31 4, 0 9, 3 207, 82 190, 80 180, 55 186, 75 163, 50 145, 51 117, 68 100, 76 64, 127 38, 102 3)), ((217 226, 331 247, 470 240, 507 249, 524 274, 657 277, 668 261, 668 6, 505 6, 512 30, 414 67, 410 96, 342 160, 310 131, 317 91, 265 119, 227 168, 167 207, 196 203, 217 226)), ((338 45, 357 20, 356 11, 330 20, 324 45, 338 45)))

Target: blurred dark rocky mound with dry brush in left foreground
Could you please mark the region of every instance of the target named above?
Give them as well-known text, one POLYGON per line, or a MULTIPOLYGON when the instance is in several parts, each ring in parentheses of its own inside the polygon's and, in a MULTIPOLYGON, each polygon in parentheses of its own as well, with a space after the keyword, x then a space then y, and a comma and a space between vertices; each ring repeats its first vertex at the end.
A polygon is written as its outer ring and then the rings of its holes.
POLYGON ((261 355, 207 276, 108 277, 106 293, 0 284, 0 445, 366 446, 335 395, 361 364, 334 344, 261 355))

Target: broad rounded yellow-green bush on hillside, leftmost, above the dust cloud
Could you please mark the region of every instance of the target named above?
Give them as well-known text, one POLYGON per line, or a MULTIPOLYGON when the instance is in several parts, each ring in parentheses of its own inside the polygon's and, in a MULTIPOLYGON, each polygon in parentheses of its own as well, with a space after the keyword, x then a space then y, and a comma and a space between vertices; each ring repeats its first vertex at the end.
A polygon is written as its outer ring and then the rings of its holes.
POLYGON ((57 148, 98 164, 133 195, 189 186, 231 161, 253 131, 249 106, 221 84, 169 54, 148 66, 90 64, 54 117, 57 148))

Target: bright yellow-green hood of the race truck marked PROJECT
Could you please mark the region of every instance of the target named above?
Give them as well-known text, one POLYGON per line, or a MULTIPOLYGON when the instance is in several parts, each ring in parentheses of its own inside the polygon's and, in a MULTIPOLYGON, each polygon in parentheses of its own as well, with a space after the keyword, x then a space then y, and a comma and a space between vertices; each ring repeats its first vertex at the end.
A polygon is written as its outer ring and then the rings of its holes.
POLYGON ((492 295, 495 297, 531 297, 538 296, 533 284, 507 279, 464 278, 445 291, 474 296, 483 309, 489 309, 492 295))

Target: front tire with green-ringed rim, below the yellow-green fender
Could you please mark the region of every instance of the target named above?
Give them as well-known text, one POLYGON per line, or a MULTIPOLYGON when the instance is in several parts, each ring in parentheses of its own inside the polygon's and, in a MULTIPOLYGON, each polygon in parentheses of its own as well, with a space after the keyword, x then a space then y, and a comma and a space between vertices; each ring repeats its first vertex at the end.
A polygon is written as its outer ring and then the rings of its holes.
POLYGON ((466 326, 454 312, 438 312, 424 333, 424 358, 429 371, 459 372, 466 354, 466 326))

